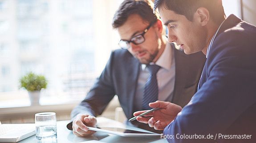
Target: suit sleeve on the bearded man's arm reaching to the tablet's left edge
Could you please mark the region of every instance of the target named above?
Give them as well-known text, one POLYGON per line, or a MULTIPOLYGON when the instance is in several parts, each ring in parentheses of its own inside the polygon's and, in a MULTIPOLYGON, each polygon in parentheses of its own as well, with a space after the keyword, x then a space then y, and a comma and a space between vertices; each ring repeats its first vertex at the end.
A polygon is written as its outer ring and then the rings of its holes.
MULTIPOLYGON (((111 75, 113 62, 114 52, 111 53, 105 69, 102 71, 100 77, 97 78, 85 99, 72 110, 71 120, 73 120, 77 114, 81 113, 89 114, 91 116, 102 114, 107 104, 115 95, 114 83, 111 75)), ((72 129, 72 123, 69 123, 67 127, 72 129)))

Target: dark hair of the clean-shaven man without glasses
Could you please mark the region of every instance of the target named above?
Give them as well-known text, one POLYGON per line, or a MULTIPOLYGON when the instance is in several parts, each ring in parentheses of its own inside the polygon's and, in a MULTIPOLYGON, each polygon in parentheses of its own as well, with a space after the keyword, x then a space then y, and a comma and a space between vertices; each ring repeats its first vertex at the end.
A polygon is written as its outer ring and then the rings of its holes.
POLYGON ((190 21, 193 21, 193 15, 200 7, 207 8, 215 23, 222 23, 225 16, 222 0, 154 0, 154 11, 156 8, 169 9, 190 21))

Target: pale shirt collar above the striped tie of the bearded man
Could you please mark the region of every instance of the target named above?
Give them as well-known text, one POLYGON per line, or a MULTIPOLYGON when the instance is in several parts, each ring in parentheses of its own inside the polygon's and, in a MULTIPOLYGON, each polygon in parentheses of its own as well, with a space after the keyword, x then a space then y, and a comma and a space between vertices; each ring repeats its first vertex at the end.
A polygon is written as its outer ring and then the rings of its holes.
MULTIPOLYGON (((158 60, 154 63, 154 62, 150 62, 150 65, 158 65, 166 70, 170 70, 171 69, 171 64, 172 64, 172 47, 170 43, 166 43, 166 46, 163 50, 162 55, 158 58, 158 60), (168 62, 167 62, 168 61, 168 62)), ((142 70, 145 70, 146 65, 142 64, 142 70)))

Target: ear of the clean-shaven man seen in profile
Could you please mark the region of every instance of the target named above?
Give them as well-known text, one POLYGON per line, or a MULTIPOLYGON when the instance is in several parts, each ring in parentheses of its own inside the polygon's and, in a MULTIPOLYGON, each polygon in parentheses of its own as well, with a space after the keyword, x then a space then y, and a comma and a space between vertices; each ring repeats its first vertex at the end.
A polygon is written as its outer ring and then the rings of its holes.
POLYGON ((196 10, 194 19, 198 20, 201 26, 207 25, 210 19, 210 13, 207 8, 200 7, 196 10))

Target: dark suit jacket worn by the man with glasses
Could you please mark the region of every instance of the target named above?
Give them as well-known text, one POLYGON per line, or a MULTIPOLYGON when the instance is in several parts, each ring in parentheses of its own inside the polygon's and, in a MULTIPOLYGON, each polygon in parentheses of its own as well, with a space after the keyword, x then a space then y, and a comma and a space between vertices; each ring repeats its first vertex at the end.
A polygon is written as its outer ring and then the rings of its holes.
MULTIPOLYGON (((171 47, 175 49, 173 44, 171 47)), ((183 51, 177 49, 174 51, 176 66, 174 94, 172 98, 169 96, 166 101, 183 107, 196 92, 206 58, 201 52, 186 55, 183 51)), ((114 95, 118 95, 118 100, 127 119, 133 117, 133 112, 136 111, 133 104, 140 66, 141 63, 128 50, 114 50, 92 89, 85 99, 73 109, 72 120, 79 113, 92 116, 101 115, 114 95)), ((148 125, 137 121, 133 121, 132 124, 150 130, 148 125)), ((71 124, 67 127, 72 129, 71 124)))

